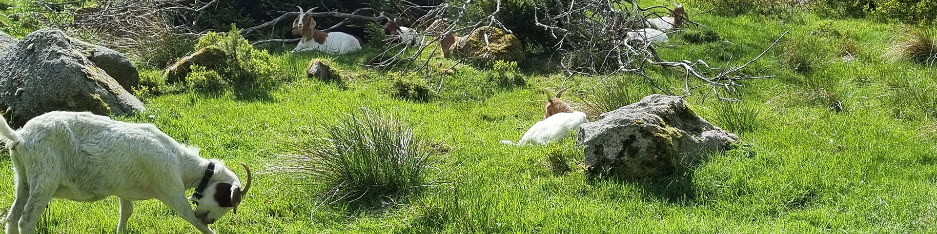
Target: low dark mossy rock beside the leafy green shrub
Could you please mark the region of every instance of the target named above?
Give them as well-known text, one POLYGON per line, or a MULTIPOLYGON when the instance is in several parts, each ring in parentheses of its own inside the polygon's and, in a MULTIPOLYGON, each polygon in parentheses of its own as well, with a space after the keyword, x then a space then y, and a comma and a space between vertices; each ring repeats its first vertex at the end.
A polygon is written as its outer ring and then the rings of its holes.
POLYGON ((193 65, 216 70, 225 66, 228 56, 216 46, 209 46, 182 57, 175 64, 166 67, 166 80, 170 83, 185 81, 193 65))

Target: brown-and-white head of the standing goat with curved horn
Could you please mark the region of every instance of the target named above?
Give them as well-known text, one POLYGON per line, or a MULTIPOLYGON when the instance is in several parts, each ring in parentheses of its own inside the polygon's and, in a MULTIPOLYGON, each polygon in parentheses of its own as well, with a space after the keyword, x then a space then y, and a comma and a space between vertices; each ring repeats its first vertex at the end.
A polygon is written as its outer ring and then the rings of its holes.
MULTIPOLYGON (((223 166, 223 164, 218 165, 223 166)), ((253 181, 250 168, 247 168, 247 165, 243 163, 241 166, 244 167, 247 173, 247 183, 243 187, 241 186, 241 180, 238 179, 233 169, 219 167, 216 174, 209 180, 208 186, 201 193, 201 197, 194 194, 188 197, 189 200, 195 202, 195 216, 202 223, 210 225, 228 212, 234 211, 234 213, 237 213, 237 207, 241 204, 241 199, 247 194, 247 190, 250 190, 250 183, 253 181)))

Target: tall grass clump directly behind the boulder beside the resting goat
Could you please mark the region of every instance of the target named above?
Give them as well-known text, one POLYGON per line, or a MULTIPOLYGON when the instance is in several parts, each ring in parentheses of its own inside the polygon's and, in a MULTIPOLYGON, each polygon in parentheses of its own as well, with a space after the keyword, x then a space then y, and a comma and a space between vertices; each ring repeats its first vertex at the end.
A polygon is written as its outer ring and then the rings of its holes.
POLYGON ((582 99, 580 110, 592 118, 637 101, 636 97, 630 93, 628 84, 622 79, 609 80, 604 84, 600 84, 582 99))

